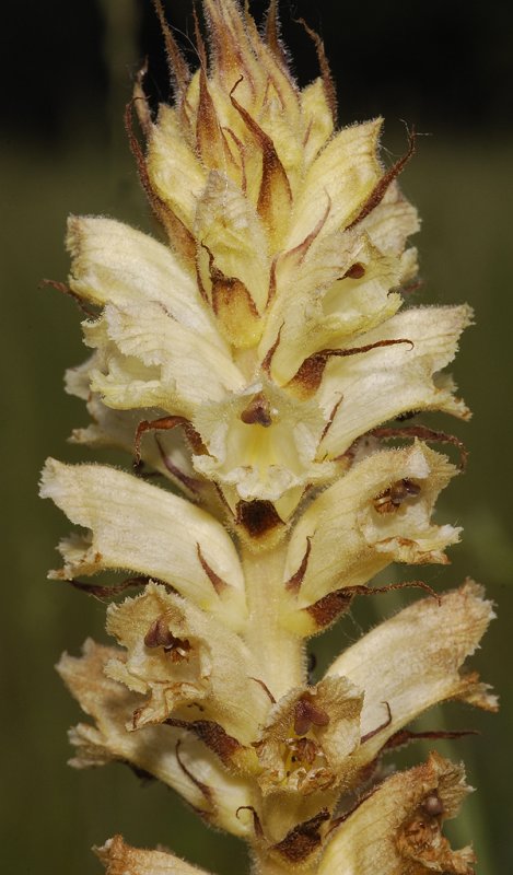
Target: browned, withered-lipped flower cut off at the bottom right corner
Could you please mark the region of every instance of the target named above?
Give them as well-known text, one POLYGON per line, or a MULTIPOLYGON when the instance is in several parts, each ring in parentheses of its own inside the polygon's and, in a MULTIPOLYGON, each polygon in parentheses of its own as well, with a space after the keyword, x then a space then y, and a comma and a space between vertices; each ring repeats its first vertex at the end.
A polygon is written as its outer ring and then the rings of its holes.
POLYGON ((438 754, 388 778, 331 833, 317 875, 471 875, 471 848, 452 851, 441 832, 469 792, 464 779, 438 754))

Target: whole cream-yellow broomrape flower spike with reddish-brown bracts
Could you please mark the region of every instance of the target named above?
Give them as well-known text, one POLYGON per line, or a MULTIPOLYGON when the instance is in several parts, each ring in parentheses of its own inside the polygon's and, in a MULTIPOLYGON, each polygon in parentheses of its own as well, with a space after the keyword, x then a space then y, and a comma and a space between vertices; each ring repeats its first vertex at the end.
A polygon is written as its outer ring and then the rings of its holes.
MULTIPOLYGON (((469 415, 444 371, 469 308, 407 305, 419 222, 397 177, 413 139, 386 170, 381 119, 338 129, 323 44, 300 90, 273 0, 261 31, 236 0, 203 0, 196 72, 156 11, 174 103, 153 117, 141 74, 127 116, 163 234, 97 217, 68 231, 92 350, 67 376, 92 417, 72 440, 136 470, 47 463, 42 494, 81 527, 51 576, 139 588, 109 605, 109 646, 59 664, 89 716, 72 763, 155 775, 245 839, 260 875, 467 875, 471 849, 441 831, 463 768, 432 752, 393 773, 382 755, 435 703, 495 708, 466 666, 492 617, 480 587, 435 595, 416 574, 420 600, 318 682, 305 667, 310 637, 394 588, 377 572, 446 563, 459 538, 432 518, 457 472, 433 444, 464 448, 404 421, 469 415), (109 570, 119 585, 83 580, 109 570)), ((120 837, 98 854, 110 875, 199 872, 120 837)))

